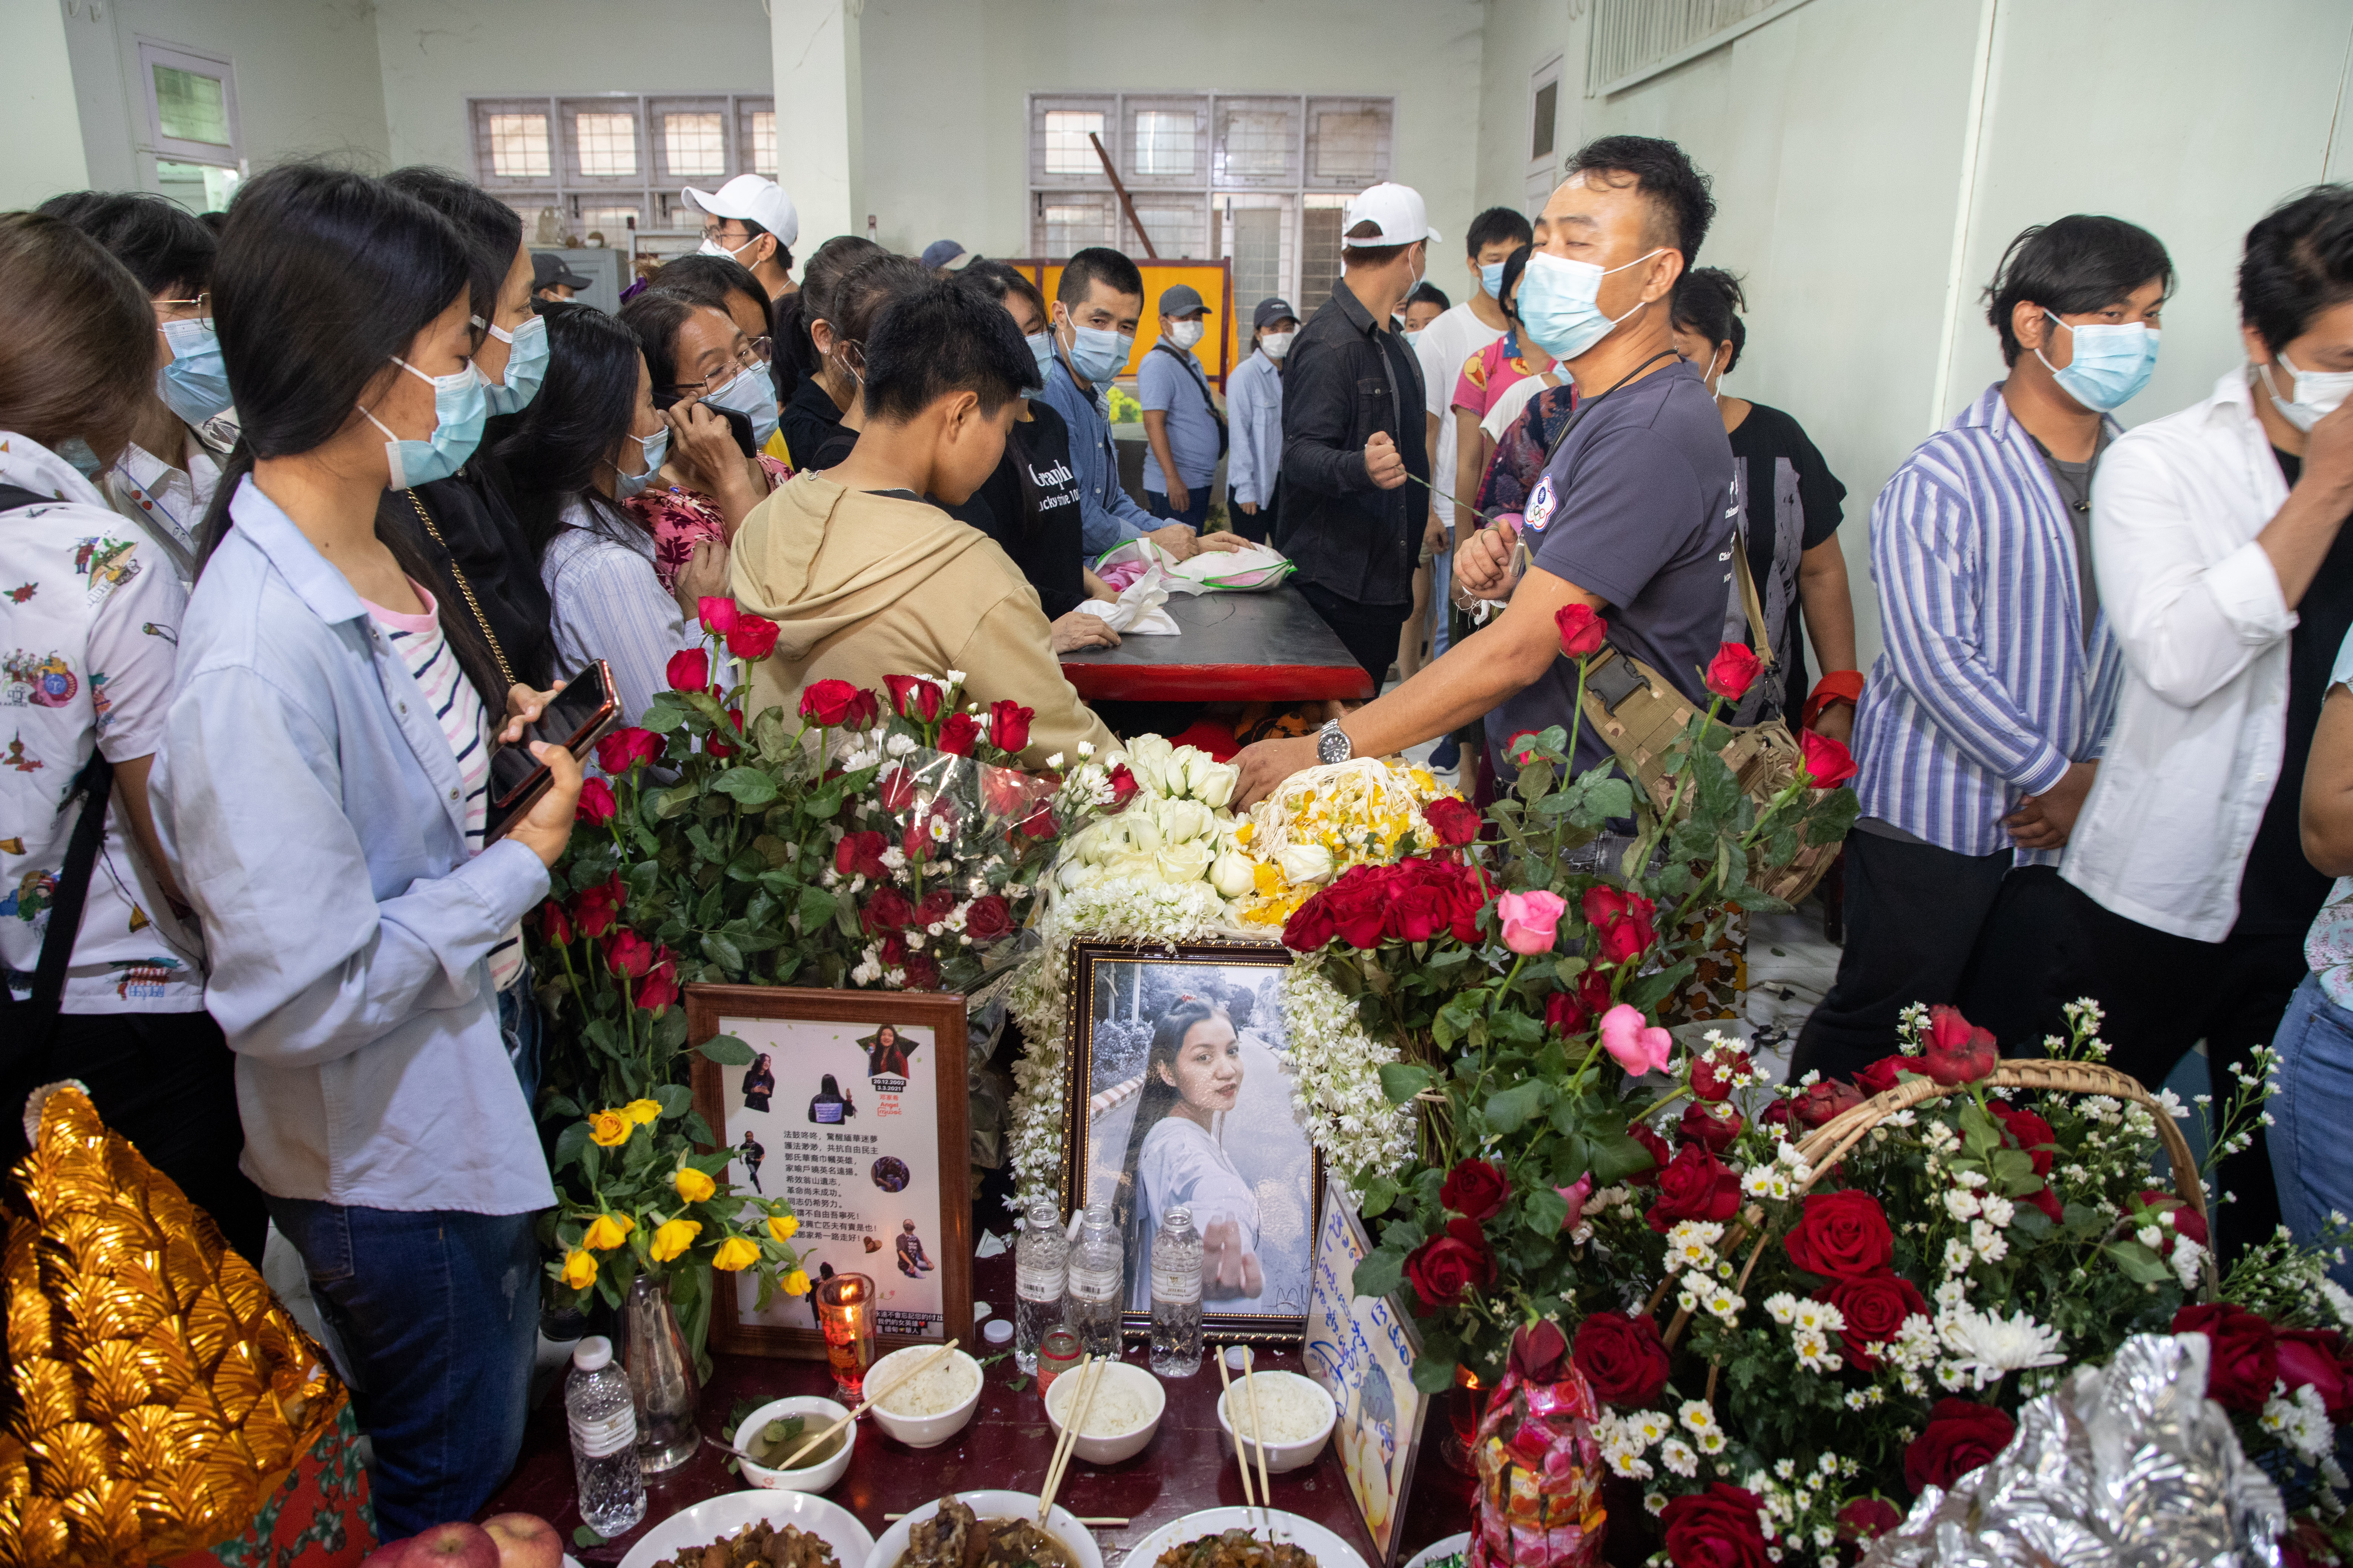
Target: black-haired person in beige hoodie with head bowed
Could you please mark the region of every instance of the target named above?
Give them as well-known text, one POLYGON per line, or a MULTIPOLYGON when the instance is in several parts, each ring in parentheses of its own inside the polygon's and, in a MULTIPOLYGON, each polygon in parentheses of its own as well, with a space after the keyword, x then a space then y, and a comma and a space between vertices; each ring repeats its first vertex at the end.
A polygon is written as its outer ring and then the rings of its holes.
POLYGON ((736 602, 781 628, 753 668, 751 712, 793 712, 821 679, 880 689, 885 675, 960 672, 969 701, 1035 712, 1021 752, 1033 766, 1115 745, 1064 679, 1021 569, 941 510, 995 473, 1035 388, 1035 355, 986 294, 929 280, 882 308, 859 444, 779 487, 734 538, 736 602))

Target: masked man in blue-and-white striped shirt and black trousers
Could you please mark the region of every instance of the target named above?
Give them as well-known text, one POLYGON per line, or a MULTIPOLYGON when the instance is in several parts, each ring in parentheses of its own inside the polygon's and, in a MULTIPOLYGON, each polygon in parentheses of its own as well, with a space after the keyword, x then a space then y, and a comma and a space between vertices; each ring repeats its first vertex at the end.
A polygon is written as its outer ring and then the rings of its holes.
POLYGON ((2108 409, 2155 367, 2172 282, 2158 237, 2120 219, 2024 230, 1986 289, 2009 374, 1871 508, 1885 651, 1854 715, 1847 950, 1795 1074, 1887 1056, 1915 1001, 1962 1004, 2012 1051, 2042 1037, 2028 971, 2066 936, 2052 867, 2115 710, 2092 470, 2108 409))

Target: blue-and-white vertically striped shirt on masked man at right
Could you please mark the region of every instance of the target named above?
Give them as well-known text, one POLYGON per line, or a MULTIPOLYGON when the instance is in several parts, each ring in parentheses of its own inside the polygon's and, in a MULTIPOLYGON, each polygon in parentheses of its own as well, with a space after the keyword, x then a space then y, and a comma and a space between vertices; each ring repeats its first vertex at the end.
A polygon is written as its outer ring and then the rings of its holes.
POLYGON ((2099 757, 2122 661, 2106 621, 2082 646, 2066 501, 2000 383, 1887 480, 1871 576, 1885 649, 1854 719, 1864 816, 1962 856, 2009 849, 2019 799, 2099 757))

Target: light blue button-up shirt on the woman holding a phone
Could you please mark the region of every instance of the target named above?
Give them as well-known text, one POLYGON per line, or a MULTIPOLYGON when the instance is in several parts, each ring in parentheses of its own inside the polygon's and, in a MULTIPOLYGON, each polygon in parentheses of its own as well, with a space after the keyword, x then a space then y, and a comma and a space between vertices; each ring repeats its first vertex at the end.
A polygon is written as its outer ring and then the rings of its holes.
POLYGON ((456 759, 351 583, 254 482, 195 583, 148 780, 205 917, 245 1173, 365 1208, 555 1201, 485 954, 548 893, 468 853, 456 759))

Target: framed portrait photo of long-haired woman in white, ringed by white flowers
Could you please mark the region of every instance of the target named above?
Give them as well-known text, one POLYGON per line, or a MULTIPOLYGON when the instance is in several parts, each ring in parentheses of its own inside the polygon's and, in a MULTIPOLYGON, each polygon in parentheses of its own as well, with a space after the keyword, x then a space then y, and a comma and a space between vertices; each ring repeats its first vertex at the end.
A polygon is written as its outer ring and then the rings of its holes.
POLYGON ((1064 1201, 1111 1204, 1129 1333, 1151 1331, 1153 1237, 1176 1206, 1202 1239, 1205 1335, 1306 1328, 1322 1161, 1292 1110, 1289 961, 1259 943, 1071 945, 1064 1201))

